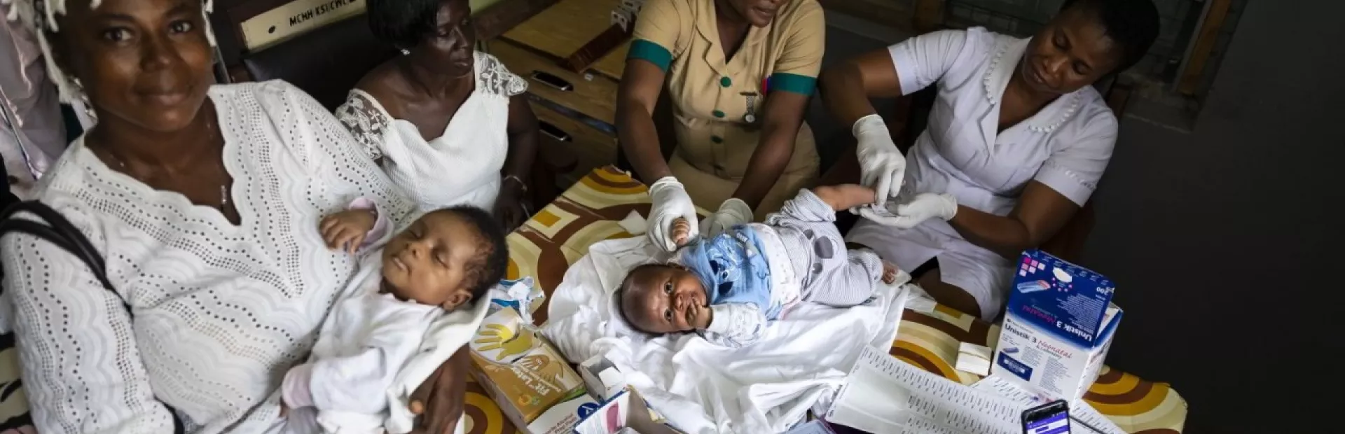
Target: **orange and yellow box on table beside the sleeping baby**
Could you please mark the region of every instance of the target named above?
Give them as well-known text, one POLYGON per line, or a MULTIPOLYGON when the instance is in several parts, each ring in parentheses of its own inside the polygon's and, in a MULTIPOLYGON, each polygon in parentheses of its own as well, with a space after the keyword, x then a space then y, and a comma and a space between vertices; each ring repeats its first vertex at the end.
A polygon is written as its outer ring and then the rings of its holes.
POLYGON ((472 374, 521 431, 568 434, 600 407, 578 372, 514 308, 488 314, 469 345, 472 374))

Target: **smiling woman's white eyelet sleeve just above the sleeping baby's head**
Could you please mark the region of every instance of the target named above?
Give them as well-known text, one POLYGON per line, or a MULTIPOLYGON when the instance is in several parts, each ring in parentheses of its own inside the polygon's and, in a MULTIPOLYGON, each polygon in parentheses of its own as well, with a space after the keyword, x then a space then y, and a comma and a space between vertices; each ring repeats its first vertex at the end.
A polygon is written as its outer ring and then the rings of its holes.
POLYGON ((343 198, 342 207, 356 198, 373 199, 378 210, 387 211, 393 227, 401 227, 414 207, 393 187, 374 159, 360 150, 360 142, 317 99, 292 85, 276 83, 286 87, 285 102, 296 109, 291 112, 295 118, 280 125, 307 126, 296 129, 292 137, 284 137, 285 142, 307 149, 309 163, 320 171, 321 180, 343 198))

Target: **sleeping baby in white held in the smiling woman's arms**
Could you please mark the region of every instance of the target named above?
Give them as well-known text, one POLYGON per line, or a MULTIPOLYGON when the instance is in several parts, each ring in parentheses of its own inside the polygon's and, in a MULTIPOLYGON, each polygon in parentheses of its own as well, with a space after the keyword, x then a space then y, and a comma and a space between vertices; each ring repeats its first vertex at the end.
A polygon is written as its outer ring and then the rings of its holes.
POLYGON ((472 301, 504 277, 504 232, 484 210, 432 211, 390 238, 387 226, 364 199, 319 223, 330 247, 360 263, 309 361, 285 374, 288 433, 410 431, 418 403, 398 396, 471 339, 486 310, 472 301))

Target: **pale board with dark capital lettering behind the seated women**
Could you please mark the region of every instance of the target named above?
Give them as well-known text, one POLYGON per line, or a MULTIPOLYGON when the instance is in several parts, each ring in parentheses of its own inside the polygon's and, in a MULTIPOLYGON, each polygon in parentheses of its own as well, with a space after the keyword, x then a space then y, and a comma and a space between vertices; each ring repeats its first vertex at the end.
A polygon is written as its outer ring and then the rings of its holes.
POLYGON ((295 0, 242 24, 243 50, 257 51, 364 12, 364 0, 295 0))

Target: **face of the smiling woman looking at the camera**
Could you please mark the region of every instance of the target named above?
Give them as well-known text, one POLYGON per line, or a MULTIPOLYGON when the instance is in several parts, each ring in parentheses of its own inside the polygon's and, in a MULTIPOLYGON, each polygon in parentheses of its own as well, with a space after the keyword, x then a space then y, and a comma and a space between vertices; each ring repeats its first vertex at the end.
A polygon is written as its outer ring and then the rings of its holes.
POLYGON ((174 132, 187 126, 214 83, 200 0, 67 0, 56 60, 77 77, 100 121, 174 132))

